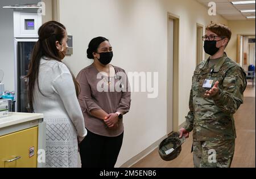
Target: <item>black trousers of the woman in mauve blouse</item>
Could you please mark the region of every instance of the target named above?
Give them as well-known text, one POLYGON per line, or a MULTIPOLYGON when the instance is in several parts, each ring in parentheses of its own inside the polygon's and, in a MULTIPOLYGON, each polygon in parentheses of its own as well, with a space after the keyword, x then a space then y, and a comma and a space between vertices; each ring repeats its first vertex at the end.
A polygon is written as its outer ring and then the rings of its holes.
POLYGON ((105 137, 90 132, 79 144, 82 168, 114 168, 123 143, 118 137, 105 137))

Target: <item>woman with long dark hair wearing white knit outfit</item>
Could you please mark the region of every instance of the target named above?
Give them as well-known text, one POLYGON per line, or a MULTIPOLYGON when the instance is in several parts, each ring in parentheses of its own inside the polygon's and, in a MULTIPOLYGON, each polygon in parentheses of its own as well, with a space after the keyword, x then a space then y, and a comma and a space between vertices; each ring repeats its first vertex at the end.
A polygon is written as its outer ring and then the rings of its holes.
POLYGON ((61 60, 67 49, 63 24, 47 22, 39 28, 39 41, 28 70, 28 103, 43 113, 46 127, 46 167, 77 167, 78 143, 87 131, 77 100, 80 87, 61 60))

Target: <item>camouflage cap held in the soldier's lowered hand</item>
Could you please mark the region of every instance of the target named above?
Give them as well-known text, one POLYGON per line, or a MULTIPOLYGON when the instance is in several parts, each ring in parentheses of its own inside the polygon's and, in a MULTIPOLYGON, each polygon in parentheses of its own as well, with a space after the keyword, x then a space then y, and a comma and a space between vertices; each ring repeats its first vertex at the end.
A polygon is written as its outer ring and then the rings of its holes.
POLYGON ((185 142, 185 137, 179 138, 179 133, 172 133, 164 139, 158 148, 158 153, 163 160, 174 160, 181 152, 181 144, 185 142))

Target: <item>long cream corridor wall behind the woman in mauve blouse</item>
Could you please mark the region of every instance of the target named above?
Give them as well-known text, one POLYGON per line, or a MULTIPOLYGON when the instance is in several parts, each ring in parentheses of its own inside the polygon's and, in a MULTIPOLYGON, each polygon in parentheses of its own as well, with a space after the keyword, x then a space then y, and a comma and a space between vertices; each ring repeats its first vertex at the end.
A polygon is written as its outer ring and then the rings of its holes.
POLYGON ((131 71, 159 72, 159 96, 132 93, 125 115, 125 137, 116 167, 139 154, 167 134, 167 12, 180 17, 179 124, 188 112, 191 78, 196 67, 196 23, 228 23, 208 16, 207 8, 194 0, 80 0, 60 1, 60 22, 73 35, 73 55, 65 58, 77 74, 90 65, 89 41, 96 36, 110 39, 113 64, 131 71))

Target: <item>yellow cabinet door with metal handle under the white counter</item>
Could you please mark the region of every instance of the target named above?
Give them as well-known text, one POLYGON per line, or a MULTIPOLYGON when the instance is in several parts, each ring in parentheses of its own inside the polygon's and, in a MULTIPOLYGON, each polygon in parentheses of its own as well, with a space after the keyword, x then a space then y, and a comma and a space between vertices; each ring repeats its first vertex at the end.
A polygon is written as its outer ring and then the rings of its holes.
POLYGON ((0 168, 36 168, 38 127, 0 137, 0 168))

